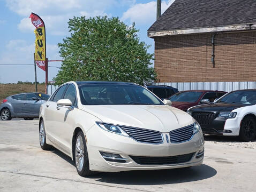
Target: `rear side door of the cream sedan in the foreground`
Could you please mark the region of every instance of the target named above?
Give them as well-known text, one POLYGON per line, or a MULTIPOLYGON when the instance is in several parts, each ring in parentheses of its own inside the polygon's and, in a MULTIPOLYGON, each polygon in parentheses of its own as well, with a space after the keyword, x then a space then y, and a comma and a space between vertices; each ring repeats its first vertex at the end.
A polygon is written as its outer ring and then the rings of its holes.
POLYGON ((46 126, 46 132, 49 134, 49 139, 52 142, 55 142, 55 140, 59 140, 59 135, 57 131, 57 124, 56 124, 56 118, 58 118, 58 110, 57 110, 57 101, 59 99, 62 99, 63 94, 66 90, 67 84, 60 86, 54 95, 52 95, 51 99, 46 103, 46 109, 44 111, 45 113, 45 119, 44 123, 46 126))

